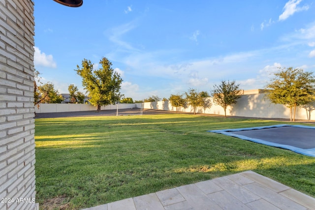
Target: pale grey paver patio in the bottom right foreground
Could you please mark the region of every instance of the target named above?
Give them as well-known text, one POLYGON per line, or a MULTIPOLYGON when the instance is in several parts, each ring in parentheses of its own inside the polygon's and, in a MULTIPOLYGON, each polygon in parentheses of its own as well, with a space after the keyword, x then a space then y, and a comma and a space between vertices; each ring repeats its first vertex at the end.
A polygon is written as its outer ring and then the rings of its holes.
POLYGON ((315 198, 246 171, 85 210, 315 210, 315 198))

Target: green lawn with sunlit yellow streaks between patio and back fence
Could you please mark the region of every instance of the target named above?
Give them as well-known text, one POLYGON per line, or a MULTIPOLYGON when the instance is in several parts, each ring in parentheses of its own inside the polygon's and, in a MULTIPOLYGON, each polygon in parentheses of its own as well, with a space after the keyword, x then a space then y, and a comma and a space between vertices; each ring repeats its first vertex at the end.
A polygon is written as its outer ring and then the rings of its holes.
POLYGON ((315 197, 314 157, 206 132, 272 124, 283 122, 180 114, 36 119, 36 202, 77 210, 246 170, 315 197))

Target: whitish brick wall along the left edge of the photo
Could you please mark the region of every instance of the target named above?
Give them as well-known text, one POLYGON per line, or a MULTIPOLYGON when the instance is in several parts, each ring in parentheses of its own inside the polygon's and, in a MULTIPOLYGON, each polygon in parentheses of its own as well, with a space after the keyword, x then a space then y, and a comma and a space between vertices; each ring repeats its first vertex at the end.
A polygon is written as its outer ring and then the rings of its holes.
POLYGON ((32 0, 0 0, 0 210, 35 203, 32 0))

